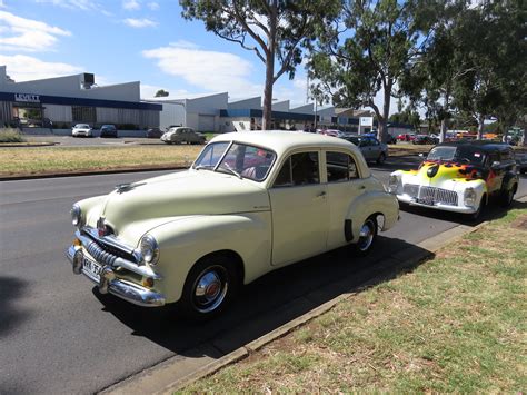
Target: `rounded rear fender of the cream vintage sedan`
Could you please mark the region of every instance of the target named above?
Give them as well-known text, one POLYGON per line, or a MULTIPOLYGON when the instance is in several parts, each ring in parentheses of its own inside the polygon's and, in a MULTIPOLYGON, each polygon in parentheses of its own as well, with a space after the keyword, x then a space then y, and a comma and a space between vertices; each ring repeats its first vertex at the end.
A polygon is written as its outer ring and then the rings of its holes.
POLYGON ((372 214, 384 216, 382 230, 390 229, 399 218, 399 203, 394 195, 381 190, 360 195, 349 206, 347 219, 351 219, 352 241, 359 239, 359 231, 365 220, 372 214))

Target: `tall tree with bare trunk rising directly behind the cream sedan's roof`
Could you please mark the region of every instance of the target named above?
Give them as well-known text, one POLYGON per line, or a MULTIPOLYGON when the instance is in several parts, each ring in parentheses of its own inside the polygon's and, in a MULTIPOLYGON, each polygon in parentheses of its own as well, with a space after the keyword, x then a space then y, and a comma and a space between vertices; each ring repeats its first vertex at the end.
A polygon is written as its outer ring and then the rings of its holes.
POLYGON ((295 77, 302 47, 314 40, 339 10, 337 0, 181 0, 182 16, 202 20, 208 31, 253 51, 266 65, 262 129, 271 124, 272 86, 295 77), (275 62, 279 67, 275 72, 275 62))

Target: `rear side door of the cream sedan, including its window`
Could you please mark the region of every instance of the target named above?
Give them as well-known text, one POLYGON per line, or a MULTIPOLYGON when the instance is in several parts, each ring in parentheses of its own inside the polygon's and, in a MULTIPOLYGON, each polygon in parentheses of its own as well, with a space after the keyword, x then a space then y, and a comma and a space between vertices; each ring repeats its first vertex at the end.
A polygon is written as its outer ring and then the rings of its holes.
POLYGON ((327 248, 342 246, 346 239, 346 219, 352 219, 348 211, 354 200, 366 190, 360 177, 357 159, 350 152, 326 151, 327 200, 329 206, 329 229, 327 248))

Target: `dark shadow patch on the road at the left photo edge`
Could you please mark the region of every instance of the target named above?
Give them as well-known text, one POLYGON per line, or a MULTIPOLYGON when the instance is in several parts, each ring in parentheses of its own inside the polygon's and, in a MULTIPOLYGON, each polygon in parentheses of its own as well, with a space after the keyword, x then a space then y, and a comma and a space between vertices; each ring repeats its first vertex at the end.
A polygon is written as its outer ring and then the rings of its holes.
POLYGON ((27 283, 19 278, 0 276, 0 338, 17 329, 28 318, 28 313, 16 307, 27 283))

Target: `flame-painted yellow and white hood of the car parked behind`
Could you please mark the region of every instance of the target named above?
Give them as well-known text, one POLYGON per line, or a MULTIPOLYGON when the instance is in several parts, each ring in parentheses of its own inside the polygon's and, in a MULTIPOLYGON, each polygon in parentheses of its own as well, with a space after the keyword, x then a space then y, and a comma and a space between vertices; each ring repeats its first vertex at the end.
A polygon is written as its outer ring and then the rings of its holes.
MULTIPOLYGON (((487 171, 488 172, 488 171, 487 171)), ((485 179, 485 170, 481 167, 459 164, 454 161, 426 160, 417 170, 404 171, 415 177, 419 185, 446 188, 454 190, 456 182, 467 180, 485 179)))

